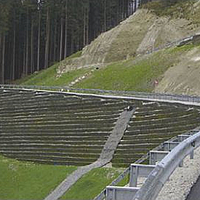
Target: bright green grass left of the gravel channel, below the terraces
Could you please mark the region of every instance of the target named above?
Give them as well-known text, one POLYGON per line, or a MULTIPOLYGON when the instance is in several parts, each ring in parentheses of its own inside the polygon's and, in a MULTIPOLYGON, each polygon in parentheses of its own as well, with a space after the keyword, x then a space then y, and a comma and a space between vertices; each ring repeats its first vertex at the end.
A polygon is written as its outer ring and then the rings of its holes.
POLYGON ((19 162, 0 156, 0 199, 44 199, 76 167, 19 162))

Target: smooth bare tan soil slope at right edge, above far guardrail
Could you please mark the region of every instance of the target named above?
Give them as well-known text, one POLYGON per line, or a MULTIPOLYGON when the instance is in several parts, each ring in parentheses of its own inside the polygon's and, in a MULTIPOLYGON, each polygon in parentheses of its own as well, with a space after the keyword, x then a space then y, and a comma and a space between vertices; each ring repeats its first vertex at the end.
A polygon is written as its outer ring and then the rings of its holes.
POLYGON ((181 58, 165 72, 155 92, 200 96, 200 48, 190 50, 181 58))

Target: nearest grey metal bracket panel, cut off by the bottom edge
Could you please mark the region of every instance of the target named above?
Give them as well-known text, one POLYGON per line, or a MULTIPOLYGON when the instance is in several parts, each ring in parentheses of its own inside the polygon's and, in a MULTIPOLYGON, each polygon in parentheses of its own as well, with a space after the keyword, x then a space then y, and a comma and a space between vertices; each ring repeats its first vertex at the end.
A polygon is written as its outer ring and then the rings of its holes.
POLYGON ((139 188, 136 187, 106 187, 106 200, 132 200, 139 188))

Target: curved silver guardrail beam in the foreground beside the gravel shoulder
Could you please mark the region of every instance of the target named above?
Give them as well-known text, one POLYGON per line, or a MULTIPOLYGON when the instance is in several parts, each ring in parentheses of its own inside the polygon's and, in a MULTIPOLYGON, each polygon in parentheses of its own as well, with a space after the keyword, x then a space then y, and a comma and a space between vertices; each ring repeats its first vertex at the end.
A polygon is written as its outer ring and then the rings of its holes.
POLYGON ((200 131, 182 141, 157 164, 133 200, 155 200, 173 171, 199 146, 200 131))

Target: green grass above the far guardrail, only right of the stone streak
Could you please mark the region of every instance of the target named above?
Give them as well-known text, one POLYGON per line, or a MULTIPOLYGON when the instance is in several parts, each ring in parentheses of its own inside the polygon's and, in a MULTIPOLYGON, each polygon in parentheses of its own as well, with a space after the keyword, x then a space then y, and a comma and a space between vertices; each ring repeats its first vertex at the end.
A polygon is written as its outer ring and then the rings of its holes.
POLYGON ((155 87, 154 81, 161 80, 164 72, 178 63, 180 56, 191 48, 192 45, 176 47, 147 55, 143 59, 113 63, 96 70, 75 87, 151 92, 155 87))

